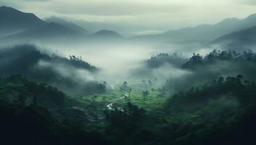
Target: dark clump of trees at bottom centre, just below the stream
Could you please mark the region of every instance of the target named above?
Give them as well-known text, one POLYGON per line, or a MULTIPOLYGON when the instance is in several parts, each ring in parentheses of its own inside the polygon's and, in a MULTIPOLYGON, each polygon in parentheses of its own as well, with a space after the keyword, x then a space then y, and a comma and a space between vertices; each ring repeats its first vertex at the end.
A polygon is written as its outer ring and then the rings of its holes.
POLYGON ((123 109, 105 110, 104 114, 106 133, 115 144, 133 144, 134 138, 130 137, 140 132, 146 120, 145 110, 130 102, 123 109))

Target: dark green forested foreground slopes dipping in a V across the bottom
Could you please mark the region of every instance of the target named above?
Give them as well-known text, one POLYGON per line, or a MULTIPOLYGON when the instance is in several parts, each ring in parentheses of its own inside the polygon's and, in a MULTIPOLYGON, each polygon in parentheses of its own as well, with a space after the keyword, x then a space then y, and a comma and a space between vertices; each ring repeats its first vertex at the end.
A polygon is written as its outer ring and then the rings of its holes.
POLYGON ((249 144, 255 139, 255 87, 242 75, 220 77, 173 96, 144 96, 141 101, 169 98, 152 110, 131 103, 133 96, 102 109, 100 118, 93 107, 99 101, 85 105, 12 75, 1 78, 1 136, 9 144, 249 144))

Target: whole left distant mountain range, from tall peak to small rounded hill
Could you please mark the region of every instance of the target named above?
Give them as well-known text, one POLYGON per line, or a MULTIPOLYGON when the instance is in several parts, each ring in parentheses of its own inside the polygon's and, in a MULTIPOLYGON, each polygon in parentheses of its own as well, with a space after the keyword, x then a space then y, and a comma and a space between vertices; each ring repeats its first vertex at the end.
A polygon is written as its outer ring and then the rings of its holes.
POLYGON ((46 21, 35 14, 20 12, 12 7, 0 7, 0 40, 2 41, 83 41, 91 39, 123 38, 112 30, 99 30, 89 34, 88 30, 72 22, 51 17, 46 21))

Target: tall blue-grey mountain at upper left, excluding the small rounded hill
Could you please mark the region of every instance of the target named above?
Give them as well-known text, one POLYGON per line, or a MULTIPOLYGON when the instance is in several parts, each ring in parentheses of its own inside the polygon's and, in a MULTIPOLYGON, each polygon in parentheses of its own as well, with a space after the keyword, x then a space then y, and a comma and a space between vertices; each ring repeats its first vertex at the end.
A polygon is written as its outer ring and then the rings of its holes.
POLYGON ((0 36, 4 40, 52 40, 56 38, 78 38, 86 31, 74 26, 44 22, 35 14, 20 12, 11 7, 0 7, 0 36))

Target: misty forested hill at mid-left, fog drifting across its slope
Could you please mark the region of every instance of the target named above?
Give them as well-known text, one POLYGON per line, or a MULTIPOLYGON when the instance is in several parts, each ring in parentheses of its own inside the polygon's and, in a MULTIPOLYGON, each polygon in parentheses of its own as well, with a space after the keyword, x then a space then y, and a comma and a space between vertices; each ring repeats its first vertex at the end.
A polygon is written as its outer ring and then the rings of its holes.
POLYGON ((80 57, 59 57, 36 46, 20 45, 0 50, 0 75, 24 75, 39 83, 49 83, 69 94, 104 92, 105 86, 94 78, 98 69, 80 57))

